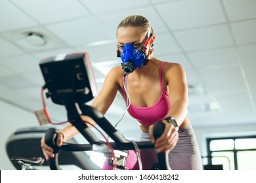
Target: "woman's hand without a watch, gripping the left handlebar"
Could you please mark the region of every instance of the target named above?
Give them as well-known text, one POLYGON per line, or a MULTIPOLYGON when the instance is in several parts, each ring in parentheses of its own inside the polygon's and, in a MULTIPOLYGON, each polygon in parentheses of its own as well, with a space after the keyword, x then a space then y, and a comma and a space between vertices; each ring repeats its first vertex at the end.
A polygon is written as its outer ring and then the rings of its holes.
MULTIPOLYGON (((62 142, 64 141, 64 133, 62 131, 57 131, 57 146, 62 146, 62 142)), ((54 158, 53 148, 47 146, 45 144, 45 136, 41 139, 41 148, 43 150, 43 155, 45 156, 45 159, 49 161, 49 158, 54 158)))

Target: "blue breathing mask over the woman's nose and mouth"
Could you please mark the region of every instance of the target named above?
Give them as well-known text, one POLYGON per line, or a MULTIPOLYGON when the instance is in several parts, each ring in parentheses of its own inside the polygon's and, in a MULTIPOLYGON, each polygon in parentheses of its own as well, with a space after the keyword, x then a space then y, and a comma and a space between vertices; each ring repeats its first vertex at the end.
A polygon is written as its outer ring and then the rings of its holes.
POLYGON ((140 69, 142 65, 146 65, 147 59, 141 50, 136 49, 133 44, 125 44, 123 52, 121 52, 121 65, 126 74, 133 73, 136 69, 140 69))

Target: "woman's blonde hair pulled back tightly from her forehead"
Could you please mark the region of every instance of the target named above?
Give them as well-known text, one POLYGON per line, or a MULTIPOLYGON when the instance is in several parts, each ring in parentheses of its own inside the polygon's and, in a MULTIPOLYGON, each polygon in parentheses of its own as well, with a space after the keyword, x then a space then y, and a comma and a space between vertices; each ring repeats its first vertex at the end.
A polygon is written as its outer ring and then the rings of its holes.
MULTIPOLYGON (((144 33, 148 33, 148 29, 150 28, 150 22, 144 16, 136 14, 127 16, 127 18, 123 19, 119 23, 117 30, 119 29, 119 27, 139 27, 144 33)), ((151 27, 150 37, 152 37, 152 35, 154 35, 154 31, 151 27)))

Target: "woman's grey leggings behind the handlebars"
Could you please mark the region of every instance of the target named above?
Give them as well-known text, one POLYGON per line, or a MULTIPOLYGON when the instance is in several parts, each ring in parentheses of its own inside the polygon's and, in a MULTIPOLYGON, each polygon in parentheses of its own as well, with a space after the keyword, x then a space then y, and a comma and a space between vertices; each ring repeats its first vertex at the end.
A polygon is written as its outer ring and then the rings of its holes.
MULTIPOLYGON (((148 133, 142 132, 140 141, 150 141, 148 133)), ((143 169, 152 169, 152 166, 158 163, 156 150, 140 150, 140 154, 143 169), (148 161, 152 162, 149 163, 148 161)), ((198 142, 192 125, 179 129, 179 140, 175 148, 169 153, 169 164, 173 170, 203 169, 198 142)))

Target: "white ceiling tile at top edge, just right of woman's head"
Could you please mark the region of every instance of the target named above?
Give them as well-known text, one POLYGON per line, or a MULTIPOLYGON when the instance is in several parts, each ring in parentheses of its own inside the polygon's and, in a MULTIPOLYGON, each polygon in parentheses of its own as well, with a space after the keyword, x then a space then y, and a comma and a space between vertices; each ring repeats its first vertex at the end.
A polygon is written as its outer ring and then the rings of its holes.
POLYGON ((156 5, 156 8, 173 31, 225 22, 223 10, 217 0, 171 1, 156 5))

